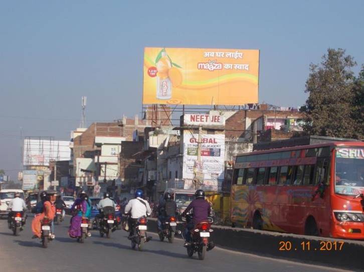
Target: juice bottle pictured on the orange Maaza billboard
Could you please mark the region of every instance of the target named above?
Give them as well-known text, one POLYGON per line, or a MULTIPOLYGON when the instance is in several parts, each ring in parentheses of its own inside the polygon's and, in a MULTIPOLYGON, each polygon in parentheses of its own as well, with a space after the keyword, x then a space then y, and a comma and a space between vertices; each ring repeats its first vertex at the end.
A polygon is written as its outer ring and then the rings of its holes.
POLYGON ((157 99, 172 98, 172 82, 168 77, 168 69, 172 66, 166 53, 162 52, 157 65, 157 99))

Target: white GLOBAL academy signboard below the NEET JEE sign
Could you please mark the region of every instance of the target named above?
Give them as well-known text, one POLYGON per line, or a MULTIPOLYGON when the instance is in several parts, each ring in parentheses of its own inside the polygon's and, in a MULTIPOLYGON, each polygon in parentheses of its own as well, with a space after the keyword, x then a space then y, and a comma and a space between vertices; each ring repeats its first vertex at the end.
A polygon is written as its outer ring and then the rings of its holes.
MULTIPOLYGON (((198 154, 198 133, 184 131, 183 176, 194 178, 194 167, 198 154)), ((217 190, 219 180, 224 179, 225 134, 202 134, 201 163, 204 189, 217 190)), ((220 182, 221 183, 221 182, 220 182)))

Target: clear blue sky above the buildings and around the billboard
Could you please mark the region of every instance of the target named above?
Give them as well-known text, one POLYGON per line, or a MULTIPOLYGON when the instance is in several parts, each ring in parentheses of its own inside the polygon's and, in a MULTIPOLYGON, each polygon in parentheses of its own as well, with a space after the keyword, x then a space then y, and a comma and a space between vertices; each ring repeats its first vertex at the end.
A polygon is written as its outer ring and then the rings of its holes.
MULTIPOLYGON (((24 135, 69 139, 80 120, 141 110, 145 46, 258 48, 260 102, 306 99, 310 62, 341 47, 364 63, 364 1, 1 1, 0 168, 24 135)), ((358 68, 355 69, 358 71, 358 68)))

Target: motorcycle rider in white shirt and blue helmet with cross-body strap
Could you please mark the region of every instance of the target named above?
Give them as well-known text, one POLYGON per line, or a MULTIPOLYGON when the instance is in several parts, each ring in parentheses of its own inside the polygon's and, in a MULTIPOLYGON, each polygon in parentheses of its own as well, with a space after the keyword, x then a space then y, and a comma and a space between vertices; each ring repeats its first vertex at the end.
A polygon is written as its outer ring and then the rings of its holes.
MULTIPOLYGON (((143 191, 141 189, 137 189, 135 191, 135 198, 130 199, 127 205, 125 206, 124 213, 130 213, 129 216, 129 238, 133 236, 134 232, 134 224, 137 222, 138 218, 142 216, 149 216, 151 214, 151 209, 149 203, 143 199, 143 191)), ((150 240, 150 237, 147 237, 147 241, 150 240)))

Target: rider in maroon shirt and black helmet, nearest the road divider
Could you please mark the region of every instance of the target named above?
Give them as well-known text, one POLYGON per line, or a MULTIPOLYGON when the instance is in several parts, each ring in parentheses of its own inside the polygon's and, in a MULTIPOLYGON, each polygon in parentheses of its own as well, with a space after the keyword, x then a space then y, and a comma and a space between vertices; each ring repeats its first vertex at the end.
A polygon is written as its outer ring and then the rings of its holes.
POLYGON ((202 189, 198 189, 195 192, 195 200, 193 200, 190 205, 185 209, 185 211, 181 214, 183 217, 187 215, 187 213, 193 209, 193 217, 192 220, 187 221, 185 228, 185 246, 189 246, 191 244, 191 230, 194 226, 208 219, 208 216, 211 213, 211 206, 207 200, 205 200, 205 191, 202 189))

